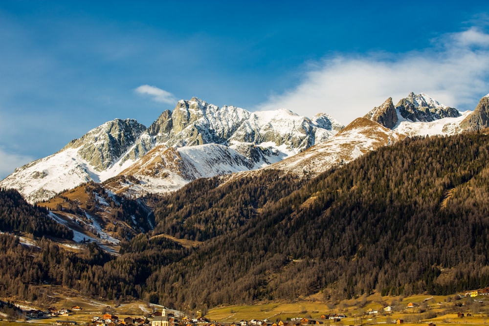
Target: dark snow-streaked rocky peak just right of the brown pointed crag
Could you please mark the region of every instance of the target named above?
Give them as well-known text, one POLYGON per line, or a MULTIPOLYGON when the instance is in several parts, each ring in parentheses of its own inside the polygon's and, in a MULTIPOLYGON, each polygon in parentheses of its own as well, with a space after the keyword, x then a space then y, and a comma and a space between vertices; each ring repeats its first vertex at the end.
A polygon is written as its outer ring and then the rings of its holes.
POLYGON ((460 116, 457 109, 447 107, 426 94, 414 94, 411 92, 396 105, 400 115, 410 121, 429 122, 447 117, 460 116))

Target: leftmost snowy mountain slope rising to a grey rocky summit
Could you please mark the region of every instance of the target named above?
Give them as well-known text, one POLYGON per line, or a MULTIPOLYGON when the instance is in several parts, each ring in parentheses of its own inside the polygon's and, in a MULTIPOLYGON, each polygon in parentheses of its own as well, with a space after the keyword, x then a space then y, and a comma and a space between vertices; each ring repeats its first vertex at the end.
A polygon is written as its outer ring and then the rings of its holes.
POLYGON ((131 119, 109 121, 61 151, 16 169, 0 187, 17 189, 27 201, 36 202, 81 183, 103 181, 123 169, 117 160, 145 129, 131 119))

